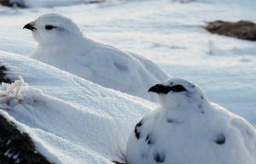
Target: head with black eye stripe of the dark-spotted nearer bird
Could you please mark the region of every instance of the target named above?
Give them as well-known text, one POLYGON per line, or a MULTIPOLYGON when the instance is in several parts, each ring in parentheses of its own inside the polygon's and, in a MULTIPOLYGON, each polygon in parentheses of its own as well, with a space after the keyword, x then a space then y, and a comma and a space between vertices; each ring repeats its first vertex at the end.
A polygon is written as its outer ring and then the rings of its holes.
POLYGON ((181 78, 173 78, 154 85, 148 92, 157 93, 160 96, 161 105, 171 107, 175 105, 195 104, 208 102, 207 96, 196 84, 181 78))

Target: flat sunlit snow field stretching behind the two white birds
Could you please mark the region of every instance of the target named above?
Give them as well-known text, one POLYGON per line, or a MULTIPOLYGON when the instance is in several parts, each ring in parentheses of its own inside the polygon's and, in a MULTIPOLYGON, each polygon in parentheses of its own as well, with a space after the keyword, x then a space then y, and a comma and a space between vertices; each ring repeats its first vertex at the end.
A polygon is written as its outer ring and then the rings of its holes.
POLYGON ((71 18, 84 36, 143 54, 168 74, 198 83, 213 102, 256 125, 255 43, 212 35, 210 20, 256 22, 253 0, 193 3, 122 1, 58 8, 0 7, 0 49, 28 56, 37 44, 22 27, 42 14, 71 18), (159 9, 160 8, 160 9, 159 9), (215 54, 209 54, 209 41, 215 54))

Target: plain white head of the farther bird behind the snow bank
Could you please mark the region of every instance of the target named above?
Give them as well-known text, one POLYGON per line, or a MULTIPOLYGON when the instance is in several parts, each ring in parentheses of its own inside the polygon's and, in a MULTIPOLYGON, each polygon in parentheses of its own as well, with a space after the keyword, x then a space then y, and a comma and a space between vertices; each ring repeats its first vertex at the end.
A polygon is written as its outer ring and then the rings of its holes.
POLYGON ((44 14, 23 28, 31 30, 33 38, 42 46, 69 42, 83 36, 72 20, 60 14, 44 14))

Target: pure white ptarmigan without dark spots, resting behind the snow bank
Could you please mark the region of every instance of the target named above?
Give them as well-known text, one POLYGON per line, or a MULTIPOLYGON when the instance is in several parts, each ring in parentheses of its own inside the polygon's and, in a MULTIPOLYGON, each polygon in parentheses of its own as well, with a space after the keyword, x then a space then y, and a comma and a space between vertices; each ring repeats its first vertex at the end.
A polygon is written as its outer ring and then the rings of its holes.
POLYGON ((148 88, 169 78, 158 65, 143 56, 84 37, 72 20, 60 14, 44 14, 24 28, 31 30, 38 42, 31 55, 33 59, 105 88, 157 102, 154 94, 148 94, 148 88))

